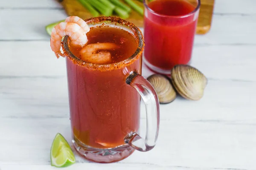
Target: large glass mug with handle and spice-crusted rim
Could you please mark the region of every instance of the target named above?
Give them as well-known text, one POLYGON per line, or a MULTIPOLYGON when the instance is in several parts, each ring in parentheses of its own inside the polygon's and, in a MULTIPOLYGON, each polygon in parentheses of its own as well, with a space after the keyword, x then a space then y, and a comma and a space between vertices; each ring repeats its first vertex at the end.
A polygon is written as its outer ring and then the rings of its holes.
POLYGON ((137 41, 135 53, 121 62, 92 64, 70 51, 64 37, 73 146, 86 159, 109 163, 125 159, 135 150, 151 150, 159 129, 159 101, 151 84, 141 76, 144 48, 141 31, 116 17, 85 20, 89 27, 116 27, 130 32, 137 41), (145 102, 147 130, 140 127, 140 97, 145 102))

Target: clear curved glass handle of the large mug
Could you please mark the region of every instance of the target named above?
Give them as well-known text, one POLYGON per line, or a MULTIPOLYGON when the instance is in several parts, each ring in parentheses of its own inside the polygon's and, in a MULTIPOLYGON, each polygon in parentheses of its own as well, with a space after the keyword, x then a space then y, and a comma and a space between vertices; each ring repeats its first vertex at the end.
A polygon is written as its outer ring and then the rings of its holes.
POLYGON ((147 118, 146 137, 143 139, 136 132, 129 133, 125 137, 125 143, 131 145, 136 150, 146 152, 156 145, 159 132, 159 100, 153 86, 143 76, 136 71, 132 71, 125 80, 126 84, 131 85, 142 97, 147 118))

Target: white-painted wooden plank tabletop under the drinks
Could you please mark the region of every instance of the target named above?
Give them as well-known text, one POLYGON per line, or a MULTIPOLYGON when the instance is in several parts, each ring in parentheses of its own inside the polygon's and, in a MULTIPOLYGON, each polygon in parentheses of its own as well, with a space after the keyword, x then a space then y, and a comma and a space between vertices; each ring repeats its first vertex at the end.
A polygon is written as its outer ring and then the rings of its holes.
MULTIPOLYGON (((70 142, 65 59, 56 59, 44 29, 66 17, 54 0, 0 0, 0 170, 56 169, 49 156, 55 134, 70 142)), ((255 40, 256 1, 216 0, 191 63, 209 80, 204 97, 160 106, 153 150, 112 164, 76 155, 65 169, 256 170, 255 40)))

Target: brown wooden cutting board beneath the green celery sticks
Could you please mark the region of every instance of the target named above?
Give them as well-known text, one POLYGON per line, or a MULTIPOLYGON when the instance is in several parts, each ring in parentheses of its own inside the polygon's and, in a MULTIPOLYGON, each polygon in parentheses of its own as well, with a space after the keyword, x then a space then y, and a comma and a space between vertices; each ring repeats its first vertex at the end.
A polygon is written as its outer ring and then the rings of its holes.
MULTIPOLYGON (((61 5, 64 7, 68 16, 76 15, 82 19, 87 19, 93 17, 90 12, 84 8, 77 0, 59 0, 61 1, 61 5)), ((143 7, 143 3, 139 1, 135 1, 138 5, 143 7)), ((196 29, 197 34, 206 34, 212 22, 212 13, 214 7, 214 0, 201 0, 201 7, 198 17, 198 25, 196 29)), ((113 15, 115 16, 115 15, 113 15)), ((134 23, 137 27, 143 27, 143 16, 135 12, 131 11, 130 17, 127 18, 131 23, 134 23)))

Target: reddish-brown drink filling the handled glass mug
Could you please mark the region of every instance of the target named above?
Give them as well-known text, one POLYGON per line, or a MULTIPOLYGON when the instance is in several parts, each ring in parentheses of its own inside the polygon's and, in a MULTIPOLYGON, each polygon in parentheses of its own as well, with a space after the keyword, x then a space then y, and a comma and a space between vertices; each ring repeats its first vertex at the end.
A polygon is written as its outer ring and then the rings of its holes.
MULTIPOLYGON (((128 31, 113 27, 95 27, 87 33, 88 44, 113 42, 118 49, 109 50, 113 62, 123 61, 137 50, 137 41, 128 31)), ((79 57, 80 48, 70 46, 79 57)), ((107 63, 105 63, 107 64, 107 63)), ((141 59, 130 68, 141 74, 141 59)), ((140 123, 140 94, 127 85, 123 69, 92 70, 67 59, 70 118, 74 139, 95 148, 125 144, 124 138, 136 131, 140 123), (81 103, 81 104, 80 104, 81 103)))

